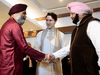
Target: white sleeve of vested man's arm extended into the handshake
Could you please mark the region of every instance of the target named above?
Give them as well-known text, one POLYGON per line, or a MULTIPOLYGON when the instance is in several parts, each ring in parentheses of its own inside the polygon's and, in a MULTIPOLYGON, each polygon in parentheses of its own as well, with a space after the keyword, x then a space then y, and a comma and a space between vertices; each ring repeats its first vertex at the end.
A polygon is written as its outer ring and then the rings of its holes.
POLYGON ((56 51, 53 53, 55 58, 63 58, 69 54, 70 51, 70 43, 66 47, 63 47, 62 49, 56 51))

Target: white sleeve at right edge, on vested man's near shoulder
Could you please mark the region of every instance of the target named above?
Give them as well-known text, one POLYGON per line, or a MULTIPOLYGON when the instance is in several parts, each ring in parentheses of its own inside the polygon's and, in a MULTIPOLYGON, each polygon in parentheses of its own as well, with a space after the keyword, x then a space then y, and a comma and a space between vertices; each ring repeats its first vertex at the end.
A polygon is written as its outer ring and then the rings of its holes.
POLYGON ((98 21, 91 21, 87 27, 87 35, 91 39, 96 53, 99 57, 98 65, 100 66, 100 22, 98 21))

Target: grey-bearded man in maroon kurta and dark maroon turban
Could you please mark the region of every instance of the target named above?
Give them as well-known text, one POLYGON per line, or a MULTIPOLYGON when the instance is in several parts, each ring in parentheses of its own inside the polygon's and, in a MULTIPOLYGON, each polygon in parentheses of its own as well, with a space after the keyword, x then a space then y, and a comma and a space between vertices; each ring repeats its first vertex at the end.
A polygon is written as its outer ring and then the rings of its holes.
POLYGON ((0 75, 23 75, 23 53, 38 61, 45 57, 28 46, 24 38, 21 25, 26 19, 26 8, 25 4, 13 6, 9 11, 11 17, 1 28, 0 75))

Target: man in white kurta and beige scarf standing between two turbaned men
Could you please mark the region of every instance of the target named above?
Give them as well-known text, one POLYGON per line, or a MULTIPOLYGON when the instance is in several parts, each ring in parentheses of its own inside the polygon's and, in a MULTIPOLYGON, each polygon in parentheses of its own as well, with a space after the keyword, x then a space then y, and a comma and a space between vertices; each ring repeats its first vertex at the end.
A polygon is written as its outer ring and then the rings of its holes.
MULTIPOLYGON (((59 48, 63 48, 66 46, 66 40, 65 40, 64 34, 54 27, 55 22, 57 20, 57 16, 55 18, 55 15, 56 14, 54 13, 47 14, 46 16, 47 29, 39 32, 36 37, 34 48, 37 50, 40 50, 41 52, 45 54, 52 54, 53 52, 56 51, 55 43, 59 43, 59 42, 56 42, 56 39, 57 39, 56 35, 60 36, 60 38, 58 39, 58 41, 60 41, 59 48), (42 41, 41 41, 41 38, 42 38, 42 41), (41 46, 42 46, 42 50, 41 50, 41 46)), ((55 60, 55 62, 51 62, 49 64, 43 61, 42 62, 37 61, 36 75, 62 75, 61 58, 60 59, 58 58, 55 60)))

